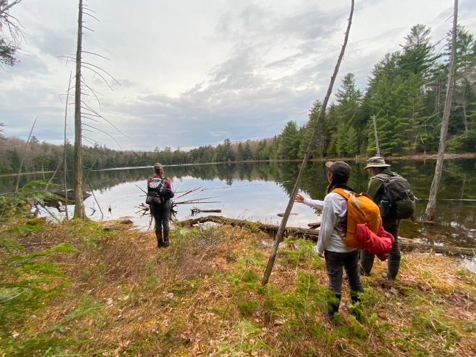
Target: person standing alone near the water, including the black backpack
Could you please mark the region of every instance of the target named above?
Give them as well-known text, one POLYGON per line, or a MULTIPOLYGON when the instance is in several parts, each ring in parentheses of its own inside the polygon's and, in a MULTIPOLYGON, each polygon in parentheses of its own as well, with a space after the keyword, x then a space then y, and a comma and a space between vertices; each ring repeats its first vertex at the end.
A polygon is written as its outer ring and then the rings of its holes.
POLYGON ((154 165, 155 177, 147 181, 147 204, 151 205, 151 214, 155 220, 155 236, 157 237, 157 248, 167 248, 169 243, 169 219, 170 204, 169 199, 163 195, 165 189, 171 191, 171 182, 167 177, 164 179, 164 167, 157 163, 154 165), (150 200, 149 200, 150 199, 150 200), (162 236, 162 227, 164 234, 162 236))

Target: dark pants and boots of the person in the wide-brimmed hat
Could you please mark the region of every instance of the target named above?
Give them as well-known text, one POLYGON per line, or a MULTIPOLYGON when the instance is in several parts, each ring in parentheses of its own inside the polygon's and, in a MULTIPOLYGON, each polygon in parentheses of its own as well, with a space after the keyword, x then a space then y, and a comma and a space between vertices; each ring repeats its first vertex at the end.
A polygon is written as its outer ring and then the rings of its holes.
MULTIPOLYGON (((399 225, 400 220, 382 220, 383 229, 388 233, 392 234, 395 238, 394 243, 392 244, 392 249, 388 253, 387 259, 387 276, 390 279, 397 277, 400 267, 401 252, 399 248, 399 225)), ((369 275, 372 267, 374 266, 374 255, 369 255, 365 250, 360 251, 360 265, 364 270, 365 275, 369 275)))

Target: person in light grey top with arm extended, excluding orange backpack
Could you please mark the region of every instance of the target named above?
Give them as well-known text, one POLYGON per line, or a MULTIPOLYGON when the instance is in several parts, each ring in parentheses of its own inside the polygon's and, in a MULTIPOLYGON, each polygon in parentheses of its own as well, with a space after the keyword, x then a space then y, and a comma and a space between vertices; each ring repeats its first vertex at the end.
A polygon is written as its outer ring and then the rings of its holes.
POLYGON ((326 162, 327 178, 329 186, 324 201, 307 199, 302 195, 295 197, 295 202, 305 204, 309 207, 323 209, 321 229, 317 242, 317 253, 319 257, 325 259, 325 271, 328 274, 328 289, 332 291, 335 298, 330 296, 328 300, 328 311, 326 316, 332 320, 339 310, 342 291, 342 268, 346 270, 348 284, 351 287, 352 303, 347 307, 355 315, 353 306, 360 301, 359 293, 364 291, 364 286, 359 274, 359 250, 348 248, 339 237, 346 236, 347 230, 347 200, 337 192, 332 192, 336 188, 341 188, 345 192, 353 192, 348 187, 348 178, 351 176, 351 167, 346 162, 326 162), (336 231, 339 231, 339 233, 336 231))

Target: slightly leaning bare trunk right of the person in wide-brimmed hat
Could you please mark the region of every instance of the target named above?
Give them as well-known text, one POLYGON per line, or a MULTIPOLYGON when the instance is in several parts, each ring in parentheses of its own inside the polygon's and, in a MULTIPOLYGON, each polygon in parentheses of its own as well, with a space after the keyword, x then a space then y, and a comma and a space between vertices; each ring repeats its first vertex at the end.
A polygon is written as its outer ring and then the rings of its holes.
POLYGON ((443 122, 441 123, 440 146, 438 148, 438 160, 436 160, 435 176, 431 183, 430 197, 428 200, 427 211, 425 211, 425 220, 432 221, 436 211, 436 195, 440 187, 441 174, 443 172, 443 160, 445 157, 446 135, 448 132, 448 124, 450 123, 451 102, 453 97, 454 85, 454 62, 456 56, 456 24, 458 23, 458 0, 454 0, 453 13, 453 33, 451 41, 451 57, 450 68, 448 73, 448 86, 446 89, 445 110, 443 112, 443 122))

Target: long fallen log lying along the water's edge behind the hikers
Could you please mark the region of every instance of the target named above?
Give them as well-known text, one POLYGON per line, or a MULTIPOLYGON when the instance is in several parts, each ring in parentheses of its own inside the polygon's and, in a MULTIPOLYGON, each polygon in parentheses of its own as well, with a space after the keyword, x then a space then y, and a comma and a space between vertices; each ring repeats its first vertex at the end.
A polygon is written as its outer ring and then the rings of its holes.
MULTIPOLYGON (((249 222, 247 220, 234 220, 232 218, 225 218, 220 217, 217 215, 208 215, 206 217, 201 218, 194 218, 192 220, 183 220, 181 225, 185 226, 192 226, 197 225, 199 223, 205 222, 215 222, 221 223, 225 225, 231 226, 238 226, 243 227, 244 225, 252 224, 254 227, 260 229, 261 231, 265 231, 269 234, 275 234, 279 226, 277 225, 265 225, 260 222, 249 222)), ((319 222, 319 225, 321 222, 319 222)), ((310 239, 312 241, 317 241, 319 236, 319 231, 316 229, 306 229, 306 228, 299 228, 299 227, 286 227, 284 231, 286 236, 295 236, 299 238, 310 239)), ((411 239, 406 238, 399 238, 399 247, 403 250, 422 250, 424 252, 433 251, 435 253, 443 253, 443 254, 450 254, 450 255, 469 255, 474 256, 476 255, 476 248, 460 248, 460 247, 453 247, 450 245, 433 245, 433 244, 425 244, 425 243, 416 243, 413 242, 411 239)))

